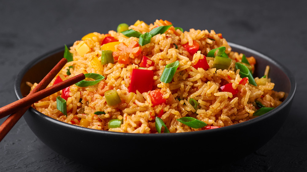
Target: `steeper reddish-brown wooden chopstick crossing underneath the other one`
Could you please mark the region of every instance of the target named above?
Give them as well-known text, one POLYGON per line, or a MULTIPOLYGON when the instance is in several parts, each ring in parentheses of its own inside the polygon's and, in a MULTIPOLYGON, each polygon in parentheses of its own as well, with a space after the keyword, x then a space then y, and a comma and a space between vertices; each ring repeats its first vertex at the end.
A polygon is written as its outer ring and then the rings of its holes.
MULTIPOLYGON (((62 58, 58 64, 45 76, 44 79, 29 93, 29 95, 36 93, 37 91, 45 89, 52 79, 60 72, 60 70, 67 63, 65 58, 62 58)), ((29 96, 28 95, 28 96, 29 96)), ((11 114, 0 126, 0 141, 6 136, 6 134, 13 128, 13 126, 17 123, 17 121, 21 118, 21 116, 28 110, 30 107, 27 106, 22 108, 21 110, 11 114)))

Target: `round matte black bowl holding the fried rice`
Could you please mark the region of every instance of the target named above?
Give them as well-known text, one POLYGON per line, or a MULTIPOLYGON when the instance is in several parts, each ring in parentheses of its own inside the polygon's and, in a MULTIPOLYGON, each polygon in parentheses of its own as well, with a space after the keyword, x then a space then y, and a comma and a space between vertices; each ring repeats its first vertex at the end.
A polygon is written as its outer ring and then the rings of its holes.
MULTIPOLYGON (((281 105, 249 121, 213 130, 188 133, 130 134, 93 130, 52 119, 34 108, 24 118, 36 136, 55 152, 101 170, 207 170, 256 151, 280 129, 296 90, 293 75, 278 62, 252 49, 229 43, 233 51, 254 56, 254 76, 270 65, 274 90, 286 92, 281 105)), ((25 82, 39 82, 63 57, 64 48, 40 56, 15 80, 18 99, 29 93, 25 82), (34 77, 35 76, 35 77, 34 77)))

